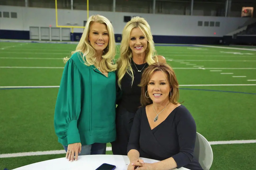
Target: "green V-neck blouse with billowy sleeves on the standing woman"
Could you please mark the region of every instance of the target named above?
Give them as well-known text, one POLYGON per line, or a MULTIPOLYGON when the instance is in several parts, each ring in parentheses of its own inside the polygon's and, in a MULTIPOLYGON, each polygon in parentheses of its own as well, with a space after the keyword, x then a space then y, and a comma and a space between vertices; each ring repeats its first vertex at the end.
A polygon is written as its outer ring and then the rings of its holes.
POLYGON ((115 71, 106 77, 94 65, 86 66, 82 53, 74 53, 64 67, 56 101, 58 141, 65 146, 114 141, 115 107, 115 71))

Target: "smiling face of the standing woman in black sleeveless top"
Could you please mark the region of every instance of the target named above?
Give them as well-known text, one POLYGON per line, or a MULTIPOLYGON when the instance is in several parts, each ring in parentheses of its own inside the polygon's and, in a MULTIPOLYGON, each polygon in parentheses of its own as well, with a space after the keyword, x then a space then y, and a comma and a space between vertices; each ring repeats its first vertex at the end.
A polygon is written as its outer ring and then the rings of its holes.
POLYGON ((130 34, 129 46, 134 54, 145 53, 147 39, 139 27, 133 28, 130 34))

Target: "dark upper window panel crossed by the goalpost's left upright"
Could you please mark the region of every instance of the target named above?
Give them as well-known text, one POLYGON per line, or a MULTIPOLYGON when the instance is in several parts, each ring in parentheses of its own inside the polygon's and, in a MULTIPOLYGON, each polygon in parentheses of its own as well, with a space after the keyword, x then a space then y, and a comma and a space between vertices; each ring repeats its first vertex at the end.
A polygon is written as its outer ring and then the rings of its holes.
MULTIPOLYGON (((29 7, 38 7, 38 8, 55 8, 54 0, 28 0, 29 7)), ((70 0, 57 0, 58 9, 71 9, 70 0)))

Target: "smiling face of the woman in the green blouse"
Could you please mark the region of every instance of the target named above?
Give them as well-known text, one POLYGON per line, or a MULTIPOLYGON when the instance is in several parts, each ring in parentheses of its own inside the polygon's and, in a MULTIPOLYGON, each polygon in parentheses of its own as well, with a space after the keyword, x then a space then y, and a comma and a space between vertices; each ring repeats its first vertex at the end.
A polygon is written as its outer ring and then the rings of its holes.
POLYGON ((108 46, 109 33, 108 28, 105 24, 93 22, 90 24, 90 32, 88 36, 92 47, 99 53, 108 46))

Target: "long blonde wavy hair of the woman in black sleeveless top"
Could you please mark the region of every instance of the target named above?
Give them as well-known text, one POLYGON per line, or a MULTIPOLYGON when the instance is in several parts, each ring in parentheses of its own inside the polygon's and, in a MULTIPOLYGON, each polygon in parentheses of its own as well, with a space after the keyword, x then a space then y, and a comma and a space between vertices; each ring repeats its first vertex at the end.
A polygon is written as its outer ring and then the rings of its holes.
POLYGON ((144 18, 133 17, 126 23, 122 32, 122 41, 120 45, 120 58, 117 60, 118 69, 118 86, 121 88, 121 81, 127 72, 134 81, 133 71, 131 67, 132 50, 129 47, 130 34, 133 28, 140 28, 147 40, 146 62, 148 65, 158 62, 156 50, 154 46, 153 36, 149 24, 144 18))

